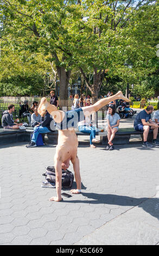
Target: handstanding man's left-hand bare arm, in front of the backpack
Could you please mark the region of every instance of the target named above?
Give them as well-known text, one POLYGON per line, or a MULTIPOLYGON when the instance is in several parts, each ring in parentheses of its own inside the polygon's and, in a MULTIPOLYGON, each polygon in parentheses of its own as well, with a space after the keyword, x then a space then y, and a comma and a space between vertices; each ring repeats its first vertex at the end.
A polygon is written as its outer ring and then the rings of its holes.
POLYGON ((61 165, 62 165, 62 161, 61 161, 60 154, 58 153, 54 157, 57 197, 51 197, 49 201, 60 202, 62 200, 62 197, 61 197, 62 166, 61 165))

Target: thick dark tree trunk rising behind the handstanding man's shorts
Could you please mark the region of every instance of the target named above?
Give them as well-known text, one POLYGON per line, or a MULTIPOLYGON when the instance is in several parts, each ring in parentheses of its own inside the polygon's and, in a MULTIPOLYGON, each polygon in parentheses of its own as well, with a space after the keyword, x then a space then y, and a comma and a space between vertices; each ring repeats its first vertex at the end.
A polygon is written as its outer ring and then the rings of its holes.
POLYGON ((71 76, 71 70, 66 71, 65 66, 56 66, 60 80, 60 99, 68 99, 68 83, 71 76))

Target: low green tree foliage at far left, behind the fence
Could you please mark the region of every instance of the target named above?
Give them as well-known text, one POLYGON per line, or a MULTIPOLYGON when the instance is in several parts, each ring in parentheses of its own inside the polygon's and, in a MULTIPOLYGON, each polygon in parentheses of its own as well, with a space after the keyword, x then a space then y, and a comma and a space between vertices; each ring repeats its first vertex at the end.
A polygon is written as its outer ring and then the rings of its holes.
POLYGON ((44 95, 52 89, 47 74, 51 74, 48 63, 41 54, 19 54, 12 52, 7 47, 1 54, 0 66, 0 95, 23 96, 44 95))

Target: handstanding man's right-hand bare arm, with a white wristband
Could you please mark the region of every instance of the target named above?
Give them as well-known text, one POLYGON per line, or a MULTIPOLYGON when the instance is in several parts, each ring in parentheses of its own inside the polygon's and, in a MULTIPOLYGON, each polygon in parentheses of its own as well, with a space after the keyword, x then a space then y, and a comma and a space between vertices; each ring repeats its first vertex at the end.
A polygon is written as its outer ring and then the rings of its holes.
POLYGON ((71 159, 71 162, 73 164, 74 176, 77 184, 77 190, 71 190, 71 193, 79 194, 80 191, 78 190, 81 190, 81 176, 80 176, 80 165, 79 165, 78 156, 75 156, 73 159, 71 159))

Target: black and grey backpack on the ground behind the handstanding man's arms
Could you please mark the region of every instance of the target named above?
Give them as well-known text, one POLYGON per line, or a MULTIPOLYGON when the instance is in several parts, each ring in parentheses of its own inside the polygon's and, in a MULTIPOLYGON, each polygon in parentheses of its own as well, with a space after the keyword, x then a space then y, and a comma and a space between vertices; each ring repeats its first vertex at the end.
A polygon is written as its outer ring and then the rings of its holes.
MULTIPOLYGON (((55 168, 54 166, 48 166, 46 168, 46 173, 43 174, 43 176, 46 176, 46 180, 48 182, 51 182, 53 184, 56 183, 55 178, 55 168)), ((71 188, 74 180, 74 175, 70 170, 63 170, 62 169, 62 187, 63 188, 71 188)))

